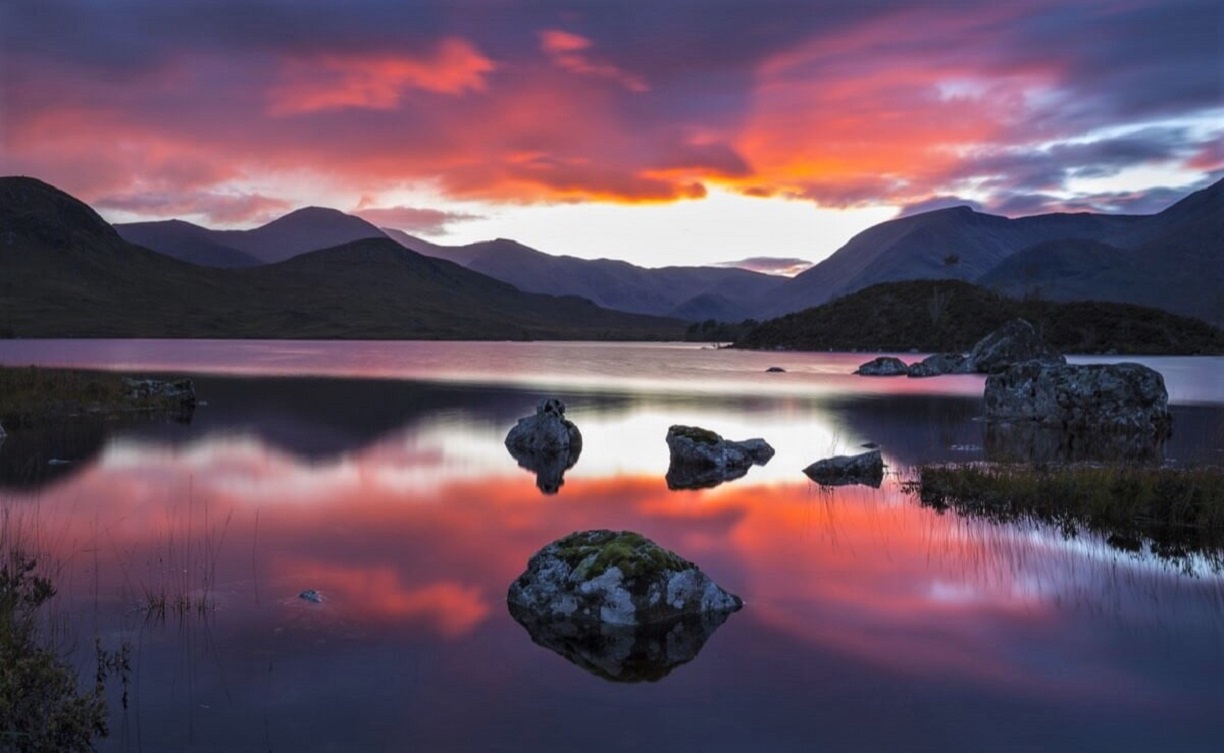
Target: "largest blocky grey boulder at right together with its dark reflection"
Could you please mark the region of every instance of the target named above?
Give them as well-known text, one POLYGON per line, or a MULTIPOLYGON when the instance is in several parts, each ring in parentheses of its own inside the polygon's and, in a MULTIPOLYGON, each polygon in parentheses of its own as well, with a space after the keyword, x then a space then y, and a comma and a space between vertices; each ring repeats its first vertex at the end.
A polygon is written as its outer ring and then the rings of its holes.
POLYGON ((1029 361, 987 377, 987 451, 1000 459, 1159 459, 1164 377, 1141 364, 1029 361))

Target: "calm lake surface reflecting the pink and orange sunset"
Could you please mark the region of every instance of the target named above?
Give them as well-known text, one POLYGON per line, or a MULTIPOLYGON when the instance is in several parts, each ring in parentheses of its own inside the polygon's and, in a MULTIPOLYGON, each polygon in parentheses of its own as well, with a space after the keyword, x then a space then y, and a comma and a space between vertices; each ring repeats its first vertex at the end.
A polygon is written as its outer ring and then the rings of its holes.
MULTIPOLYGON (((190 424, 10 436, 0 504, 55 563, 86 678, 94 637, 132 646, 100 751, 1218 751, 1219 567, 923 507, 912 465, 984 457, 984 377, 849 373, 871 355, 0 342, 5 365, 192 376, 201 400, 190 424), (556 493, 503 446, 543 397, 584 438, 556 493), (670 491, 672 424, 777 454, 670 491), (865 442, 880 489, 803 475, 865 442), (645 682, 537 643, 507 588, 597 528, 674 550, 744 609, 645 682), (207 606, 159 615, 159 594, 207 606)), ((1224 460, 1224 359, 1118 360, 1165 376, 1169 460, 1224 460)))

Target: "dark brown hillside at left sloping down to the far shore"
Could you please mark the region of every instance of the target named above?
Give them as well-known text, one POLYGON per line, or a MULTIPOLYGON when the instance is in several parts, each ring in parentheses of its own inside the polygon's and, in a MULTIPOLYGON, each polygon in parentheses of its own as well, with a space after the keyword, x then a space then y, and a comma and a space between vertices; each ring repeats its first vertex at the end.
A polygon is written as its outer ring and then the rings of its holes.
POLYGON ((32 178, 0 178, 0 332, 17 337, 661 339, 683 324, 528 294, 388 238, 259 267, 124 240, 32 178))

